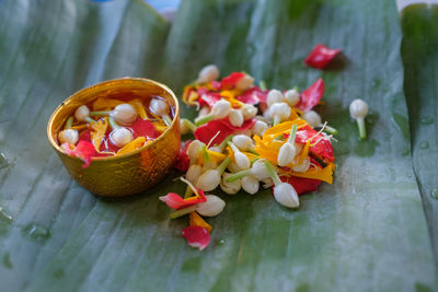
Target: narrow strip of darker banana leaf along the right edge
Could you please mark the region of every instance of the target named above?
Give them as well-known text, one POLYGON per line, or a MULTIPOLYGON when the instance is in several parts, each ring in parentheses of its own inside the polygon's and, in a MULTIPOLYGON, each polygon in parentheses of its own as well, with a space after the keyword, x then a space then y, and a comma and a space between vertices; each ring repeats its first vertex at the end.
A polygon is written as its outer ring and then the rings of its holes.
POLYGON ((410 113, 415 176, 435 258, 438 258, 438 7, 417 4, 402 13, 404 91, 410 113))

